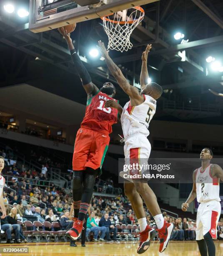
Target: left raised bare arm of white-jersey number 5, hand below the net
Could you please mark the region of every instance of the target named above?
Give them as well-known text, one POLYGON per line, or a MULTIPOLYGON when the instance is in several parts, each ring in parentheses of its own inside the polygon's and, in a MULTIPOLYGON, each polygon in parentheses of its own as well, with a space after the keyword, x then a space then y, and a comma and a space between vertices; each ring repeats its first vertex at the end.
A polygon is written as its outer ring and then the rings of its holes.
POLYGON ((129 95, 130 99, 143 100, 143 96, 139 94, 138 89, 129 84, 128 80, 124 77, 120 68, 110 58, 104 43, 98 41, 98 47, 101 55, 105 58, 105 62, 108 66, 108 69, 110 70, 113 77, 115 77, 123 91, 129 95))

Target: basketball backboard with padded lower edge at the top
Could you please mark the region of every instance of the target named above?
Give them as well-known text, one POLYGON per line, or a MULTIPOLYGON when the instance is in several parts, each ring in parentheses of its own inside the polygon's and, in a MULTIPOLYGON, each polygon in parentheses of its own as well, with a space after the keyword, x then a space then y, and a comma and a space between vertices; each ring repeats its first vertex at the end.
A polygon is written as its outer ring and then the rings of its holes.
POLYGON ((159 0, 30 0, 29 29, 39 33, 156 1, 159 0))

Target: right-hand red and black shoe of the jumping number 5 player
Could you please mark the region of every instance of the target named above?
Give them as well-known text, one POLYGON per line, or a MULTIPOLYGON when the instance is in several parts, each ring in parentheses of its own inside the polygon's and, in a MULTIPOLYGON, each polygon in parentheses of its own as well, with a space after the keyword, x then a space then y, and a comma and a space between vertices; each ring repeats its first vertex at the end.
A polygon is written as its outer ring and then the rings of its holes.
POLYGON ((160 249, 159 252, 163 252, 165 248, 167 248, 168 243, 170 241, 170 235, 173 231, 173 224, 168 223, 164 220, 163 228, 156 229, 159 233, 160 238, 160 249))

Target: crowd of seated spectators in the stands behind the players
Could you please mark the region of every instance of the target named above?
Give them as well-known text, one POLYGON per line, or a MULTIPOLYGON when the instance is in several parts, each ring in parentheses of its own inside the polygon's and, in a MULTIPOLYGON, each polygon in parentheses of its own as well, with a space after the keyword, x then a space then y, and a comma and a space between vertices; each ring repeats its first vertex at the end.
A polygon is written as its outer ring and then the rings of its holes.
MULTIPOLYGON (((71 193, 67 193, 65 188, 55 187, 53 183, 48 182, 48 168, 52 161, 48 157, 37 156, 34 151, 31 151, 30 154, 42 165, 40 172, 35 169, 27 169, 23 164, 18 166, 15 161, 13 164, 8 162, 3 171, 3 175, 7 174, 12 177, 8 184, 13 190, 7 190, 6 187, 3 193, 7 217, 3 221, 1 220, 2 229, 5 231, 9 243, 11 243, 12 232, 15 233, 15 241, 26 241, 17 220, 23 223, 29 216, 35 217, 41 223, 58 221, 62 230, 68 230, 73 225, 72 216, 70 216, 70 206, 73 201, 71 193)), ((0 151, 0 155, 7 156, 4 150, 0 151)), ((60 164, 58 164, 59 166, 60 164)), ((69 177, 71 183, 72 177, 71 175, 69 177)), ((109 193, 109 189, 113 189, 113 181, 108 178, 104 183, 98 179, 95 187, 98 189, 97 191, 109 193)), ((90 239, 89 234, 92 232, 94 241, 98 241, 98 239, 110 241, 111 233, 113 234, 112 239, 116 240, 117 232, 121 231, 117 230, 116 224, 138 224, 131 208, 130 202, 122 195, 113 199, 93 197, 90 206, 91 215, 87 220, 87 239, 90 239)), ((146 209, 145 212, 148 224, 155 225, 150 213, 146 209)), ((163 215, 167 222, 174 225, 170 240, 195 240, 195 221, 186 218, 183 220, 182 218, 172 218, 166 212, 163 212, 163 215)), ((220 219, 217 229, 218 239, 223 240, 223 218, 220 219)), ((127 229, 125 231, 130 232, 127 229)))

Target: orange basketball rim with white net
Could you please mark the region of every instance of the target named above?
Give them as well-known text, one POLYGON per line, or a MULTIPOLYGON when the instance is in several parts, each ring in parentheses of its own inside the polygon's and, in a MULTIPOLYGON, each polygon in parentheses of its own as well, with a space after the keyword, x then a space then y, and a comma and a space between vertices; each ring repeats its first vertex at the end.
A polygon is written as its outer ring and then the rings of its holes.
POLYGON ((140 6, 135 6, 110 15, 101 17, 103 27, 108 35, 108 49, 121 52, 128 51, 133 47, 130 42, 131 33, 143 20, 145 12, 140 6), (131 11, 131 9, 134 10, 131 11), (109 18, 110 15, 114 15, 113 20, 109 18))

